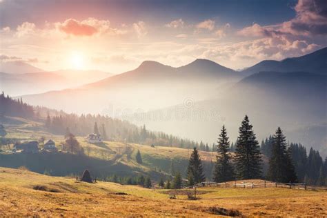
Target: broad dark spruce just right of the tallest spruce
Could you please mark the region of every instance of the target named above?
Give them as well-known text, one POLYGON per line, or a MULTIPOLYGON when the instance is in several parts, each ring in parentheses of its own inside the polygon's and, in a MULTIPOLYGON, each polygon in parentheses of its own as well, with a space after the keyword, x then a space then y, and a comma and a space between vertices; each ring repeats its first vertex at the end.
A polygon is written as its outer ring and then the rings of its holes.
POLYGON ((296 181, 295 168, 291 159, 290 150, 288 149, 286 137, 281 131, 281 128, 277 128, 273 136, 273 146, 271 147, 267 177, 271 181, 296 181))

